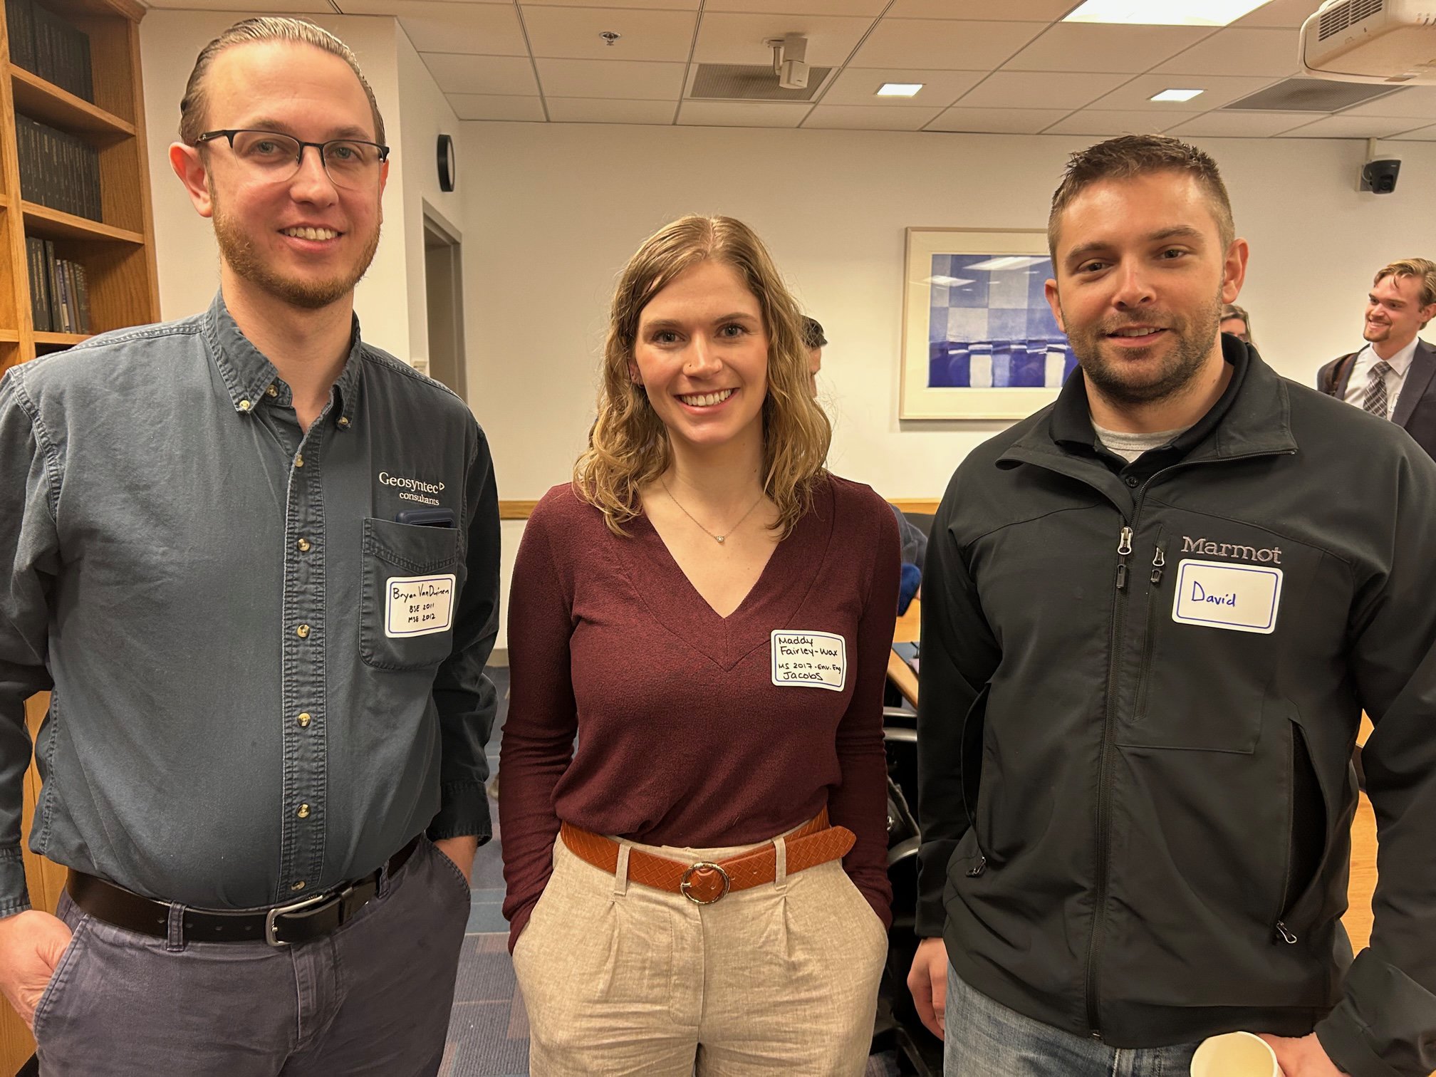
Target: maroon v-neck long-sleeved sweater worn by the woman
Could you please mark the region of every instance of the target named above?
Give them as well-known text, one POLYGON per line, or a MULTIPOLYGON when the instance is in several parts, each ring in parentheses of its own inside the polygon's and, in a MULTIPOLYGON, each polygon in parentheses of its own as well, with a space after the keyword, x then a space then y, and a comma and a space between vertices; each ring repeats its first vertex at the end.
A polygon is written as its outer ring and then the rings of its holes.
MULTIPOLYGON (((857 834, 843 867, 889 922, 892 510, 869 487, 821 481, 728 617, 704 602, 646 517, 625 530, 610 533, 563 485, 534 508, 518 547, 498 768, 510 946, 549 882, 560 820, 646 844, 712 847, 764 841, 826 804, 857 834), (788 681, 814 676, 791 638, 798 658, 780 646, 775 672, 774 630, 841 636, 841 689, 788 681)), ((837 679, 831 668, 821 675, 837 679)))

